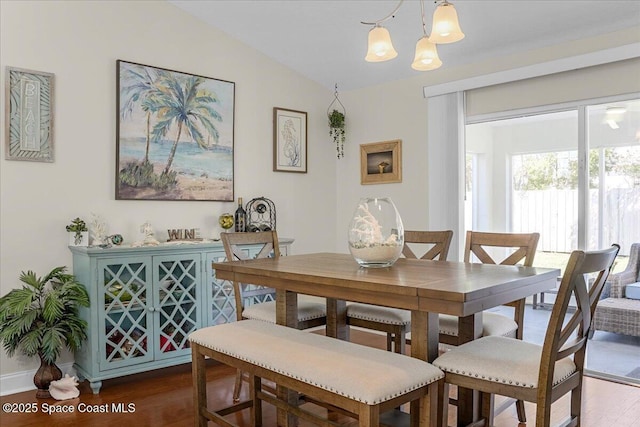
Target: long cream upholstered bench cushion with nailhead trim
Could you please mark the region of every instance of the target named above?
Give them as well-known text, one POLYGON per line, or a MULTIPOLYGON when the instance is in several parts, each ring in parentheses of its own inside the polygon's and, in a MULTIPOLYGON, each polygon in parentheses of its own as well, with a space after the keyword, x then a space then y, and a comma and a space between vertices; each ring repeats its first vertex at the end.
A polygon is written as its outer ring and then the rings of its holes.
POLYGON ((199 329, 189 340, 367 405, 444 377, 409 356, 256 320, 199 329))

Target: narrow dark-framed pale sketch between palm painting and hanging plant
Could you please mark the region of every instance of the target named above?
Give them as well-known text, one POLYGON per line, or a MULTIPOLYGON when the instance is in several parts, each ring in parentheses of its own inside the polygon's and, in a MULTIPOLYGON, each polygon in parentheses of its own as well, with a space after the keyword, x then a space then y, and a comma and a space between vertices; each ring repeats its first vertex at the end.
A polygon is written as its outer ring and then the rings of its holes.
POLYGON ((273 170, 307 173, 307 113, 273 109, 273 170))

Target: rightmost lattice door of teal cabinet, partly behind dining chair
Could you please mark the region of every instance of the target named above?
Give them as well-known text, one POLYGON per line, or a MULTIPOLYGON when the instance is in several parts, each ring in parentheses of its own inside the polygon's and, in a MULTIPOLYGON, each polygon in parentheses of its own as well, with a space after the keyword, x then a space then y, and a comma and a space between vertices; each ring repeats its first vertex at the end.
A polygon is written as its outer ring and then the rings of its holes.
POLYGON ((216 278, 216 272, 212 267, 214 262, 226 261, 224 252, 211 252, 207 254, 207 325, 219 325, 236 321, 236 302, 233 295, 233 285, 227 280, 216 278))

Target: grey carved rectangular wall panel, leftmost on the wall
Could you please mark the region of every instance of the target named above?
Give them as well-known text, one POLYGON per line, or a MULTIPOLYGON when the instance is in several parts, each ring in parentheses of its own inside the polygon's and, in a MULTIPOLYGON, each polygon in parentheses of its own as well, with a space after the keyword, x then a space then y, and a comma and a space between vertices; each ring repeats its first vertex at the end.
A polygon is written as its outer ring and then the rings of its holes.
POLYGON ((53 74, 7 67, 5 158, 53 162, 53 74))

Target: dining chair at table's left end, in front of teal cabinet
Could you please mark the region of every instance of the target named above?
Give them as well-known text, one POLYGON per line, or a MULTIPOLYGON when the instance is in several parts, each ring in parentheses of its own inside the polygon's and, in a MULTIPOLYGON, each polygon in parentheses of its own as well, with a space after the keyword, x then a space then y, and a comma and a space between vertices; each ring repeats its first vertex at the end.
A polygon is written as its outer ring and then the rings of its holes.
MULTIPOLYGON (((220 233, 227 261, 242 261, 267 257, 280 257, 278 234, 275 230, 251 233, 220 233)), ((266 286, 233 281, 236 319, 261 320, 276 323, 276 291, 266 286)), ((309 329, 325 325, 327 305, 324 298, 309 295, 298 296, 297 329, 309 329)), ((242 390, 243 374, 237 372, 233 400, 237 402, 242 390)))

